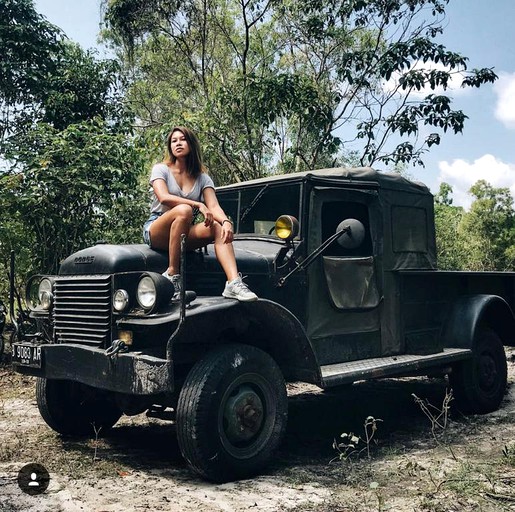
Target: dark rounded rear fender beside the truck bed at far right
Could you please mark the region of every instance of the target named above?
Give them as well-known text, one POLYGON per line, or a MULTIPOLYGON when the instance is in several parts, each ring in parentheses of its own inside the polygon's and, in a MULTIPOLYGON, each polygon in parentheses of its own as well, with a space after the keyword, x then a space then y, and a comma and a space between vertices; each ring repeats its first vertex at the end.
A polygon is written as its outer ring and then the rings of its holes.
POLYGON ((444 322, 442 339, 446 348, 473 348, 480 326, 488 326, 503 345, 514 345, 515 317, 508 303, 497 295, 459 297, 444 322))

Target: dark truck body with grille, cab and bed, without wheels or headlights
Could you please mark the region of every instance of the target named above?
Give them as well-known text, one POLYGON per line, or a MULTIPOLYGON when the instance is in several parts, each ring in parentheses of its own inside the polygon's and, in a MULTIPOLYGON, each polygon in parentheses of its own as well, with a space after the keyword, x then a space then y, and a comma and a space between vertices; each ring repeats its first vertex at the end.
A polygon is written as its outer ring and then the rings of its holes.
POLYGON ((221 297, 225 277, 209 245, 185 256, 185 288, 197 297, 184 309, 164 301, 145 312, 134 299, 138 281, 163 272, 167 254, 99 244, 62 262, 52 310, 32 313, 46 335, 20 343, 37 346, 40 358, 23 360, 15 347, 15 369, 112 393, 128 413, 175 408, 191 369, 223 345, 256 347, 286 381, 327 388, 461 371, 477 363, 485 329, 504 345, 515 341, 515 274, 437 270, 433 197, 420 183, 368 168, 327 169, 220 187, 217 196, 234 221, 238 267, 257 302, 221 297), (274 232, 283 214, 299 220, 289 243, 274 232), (349 218, 364 226, 359 246, 332 243, 303 268, 349 218), (122 313, 112 307, 120 288, 131 297, 122 313), (106 354, 125 331, 126 351, 106 354))

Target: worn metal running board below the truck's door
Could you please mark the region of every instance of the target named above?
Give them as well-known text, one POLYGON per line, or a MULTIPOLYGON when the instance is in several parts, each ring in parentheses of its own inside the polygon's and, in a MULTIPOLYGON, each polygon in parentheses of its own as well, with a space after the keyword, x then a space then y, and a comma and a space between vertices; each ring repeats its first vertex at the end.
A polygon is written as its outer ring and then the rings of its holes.
POLYGON ((348 384, 357 380, 383 377, 405 377, 423 369, 431 369, 468 359, 470 349, 446 348, 442 352, 427 356, 403 354, 398 356, 361 359, 348 363, 328 364, 321 367, 322 388, 348 384))

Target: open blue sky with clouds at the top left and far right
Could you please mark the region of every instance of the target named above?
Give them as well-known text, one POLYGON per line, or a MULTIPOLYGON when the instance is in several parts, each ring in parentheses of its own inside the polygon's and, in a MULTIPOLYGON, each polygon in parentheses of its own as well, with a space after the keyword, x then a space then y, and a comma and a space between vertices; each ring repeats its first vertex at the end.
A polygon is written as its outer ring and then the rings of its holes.
MULTIPOLYGON (((85 48, 97 46, 98 0, 36 0, 36 9, 85 48)), ((440 42, 469 58, 469 69, 493 67, 499 80, 481 89, 455 89, 454 108, 469 117, 463 134, 447 134, 412 177, 433 192, 446 181, 454 204, 469 206, 470 186, 485 179, 515 196, 515 0, 450 0, 440 42)), ((101 55, 103 50, 101 49, 101 55)))

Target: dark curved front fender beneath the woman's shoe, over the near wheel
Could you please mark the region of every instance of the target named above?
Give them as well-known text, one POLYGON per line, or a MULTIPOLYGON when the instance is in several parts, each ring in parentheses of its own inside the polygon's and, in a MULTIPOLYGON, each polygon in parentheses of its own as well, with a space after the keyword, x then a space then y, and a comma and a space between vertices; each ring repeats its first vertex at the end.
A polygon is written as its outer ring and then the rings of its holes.
POLYGON ((232 301, 232 307, 227 307, 227 302, 220 298, 220 308, 199 310, 194 318, 186 318, 174 345, 234 342, 253 345, 273 357, 286 380, 321 382, 320 366, 311 342, 291 311, 267 299, 232 301))

